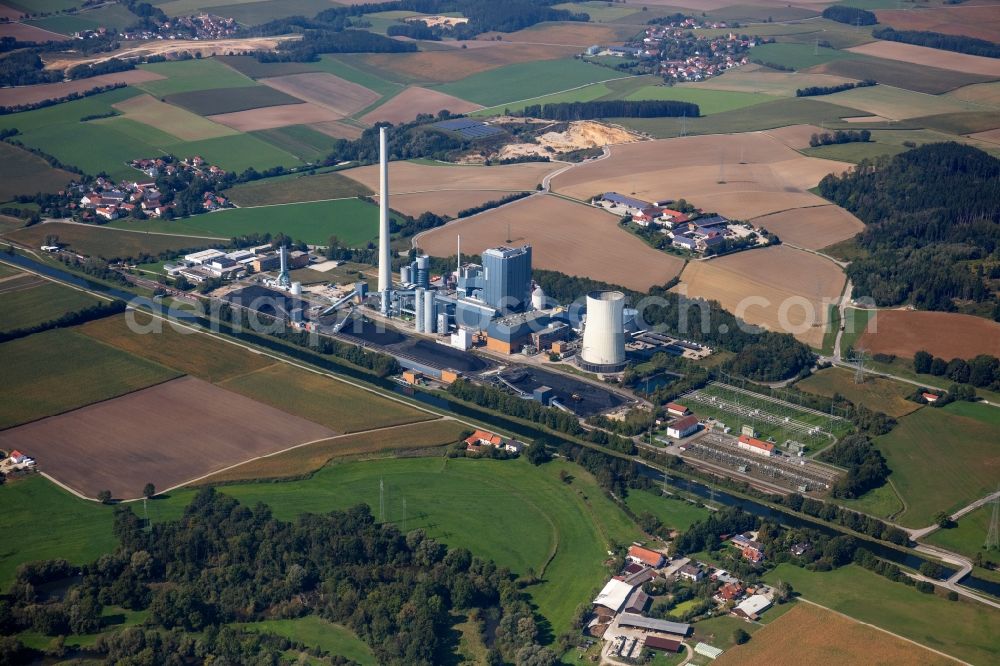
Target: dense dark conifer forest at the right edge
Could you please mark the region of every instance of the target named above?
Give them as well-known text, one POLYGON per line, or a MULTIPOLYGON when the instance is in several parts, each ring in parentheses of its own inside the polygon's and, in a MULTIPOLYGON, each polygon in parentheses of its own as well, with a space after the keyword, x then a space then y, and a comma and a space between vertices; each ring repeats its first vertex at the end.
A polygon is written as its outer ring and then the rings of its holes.
MULTIPOLYGON (((879 306, 955 310, 956 299, 994 304, 984 264, 1000 247, 1000 160, 954 142, 863 160, 820 181, 820 194, 857 215, 855 295, 879 306)), ((1000 316, 1000 309, 996 310, 1000 316)))

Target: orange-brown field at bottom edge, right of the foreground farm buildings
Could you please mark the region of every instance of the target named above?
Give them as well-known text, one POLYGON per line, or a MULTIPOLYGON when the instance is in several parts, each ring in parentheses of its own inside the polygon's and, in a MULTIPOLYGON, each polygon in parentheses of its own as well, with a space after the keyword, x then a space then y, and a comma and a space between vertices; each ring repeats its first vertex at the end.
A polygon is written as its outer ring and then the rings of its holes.
POLYGON ((817 655, 822 655, 822 663, 841 666, 953 666, 958 663, 871 625, 805 601, 798 602, 790 611, 756 632, 749 642, 730 648, 713 663, 718 666, 799 666, 815 663, 817 655))

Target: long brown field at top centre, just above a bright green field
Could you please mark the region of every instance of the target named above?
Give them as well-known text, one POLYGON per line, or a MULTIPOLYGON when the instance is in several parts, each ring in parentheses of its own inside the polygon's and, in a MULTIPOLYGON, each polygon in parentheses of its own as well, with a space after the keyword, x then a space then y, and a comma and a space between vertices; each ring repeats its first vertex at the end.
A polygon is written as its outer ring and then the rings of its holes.
POLYGON ((579 53, 575 46, 544 44, 507 44, 448 51, 417 53, 370 53, 361 57, 369 67, 396 72, 413 81, 445 83, 496 69, 504 65, 536 60, 557 60, 579 53))

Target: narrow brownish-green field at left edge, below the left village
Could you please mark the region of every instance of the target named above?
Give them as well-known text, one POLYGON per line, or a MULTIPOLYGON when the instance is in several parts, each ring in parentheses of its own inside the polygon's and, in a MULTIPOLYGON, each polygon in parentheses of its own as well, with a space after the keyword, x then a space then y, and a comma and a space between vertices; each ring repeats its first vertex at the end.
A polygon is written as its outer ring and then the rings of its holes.
MULTIPOLYGON (((169 223, 167 223, 169 224, 169 223)), ((66 224, 49 222, 17 229, 3 234, 26 245, 38 247, 48 235, 59 237, 59 242, 68 245, 75 252, 91 257, 105 259, 139 257, 144 254, 157 255, 161 252, 173 252, 184 249, 195 249, 211 245, 213 241, 190 236, 167 236, 140 234, 128 231, 84 224, 66 224)))

